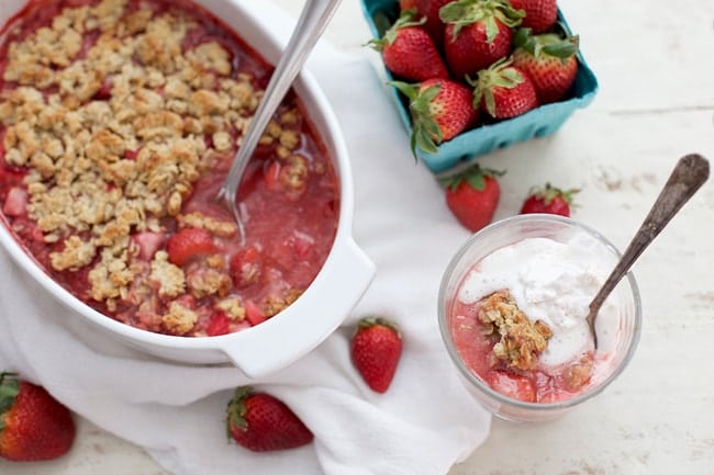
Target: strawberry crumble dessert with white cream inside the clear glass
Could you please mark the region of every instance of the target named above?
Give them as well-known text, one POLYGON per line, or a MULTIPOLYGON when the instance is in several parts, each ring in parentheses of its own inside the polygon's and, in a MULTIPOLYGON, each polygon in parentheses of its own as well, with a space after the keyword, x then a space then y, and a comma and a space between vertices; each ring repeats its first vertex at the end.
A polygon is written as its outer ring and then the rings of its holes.
MULTIPOLYGON (((528 403, 556 403, 609 374, 616 330, 593 348, 585 317, 612 269, 589 236, 566 242, 526 238, 476 263, 448 310, 464 363, 492 389, 528 403)), ((612 323, 609 299, 599 319, 612 323)), ((616 327, 616 326, 615 326, 616 327)))

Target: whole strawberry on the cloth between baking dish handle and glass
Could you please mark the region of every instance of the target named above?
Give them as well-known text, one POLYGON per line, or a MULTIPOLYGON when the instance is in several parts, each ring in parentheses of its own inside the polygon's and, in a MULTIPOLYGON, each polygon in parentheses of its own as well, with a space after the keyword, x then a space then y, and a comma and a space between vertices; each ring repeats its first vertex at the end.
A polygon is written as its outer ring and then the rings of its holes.
POLYGON ((402 337, 395 324, 362 318, 350 341, 352 361, 367 385, 386 393, 402 355, 402 337))

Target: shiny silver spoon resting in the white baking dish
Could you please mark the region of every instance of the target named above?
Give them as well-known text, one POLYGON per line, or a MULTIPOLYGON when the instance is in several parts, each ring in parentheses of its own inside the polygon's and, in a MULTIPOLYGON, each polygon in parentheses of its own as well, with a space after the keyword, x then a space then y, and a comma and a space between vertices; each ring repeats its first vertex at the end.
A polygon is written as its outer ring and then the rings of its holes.
POLYGON ((236 201, 245 167, 248 165, 248 160, 253 156, 265 128, 292 86, 298 72, 302 69, 302 65, 308 59, 310 52, 312 52, 315 43, 325 31, 339 2, 341 0, 308 0, 305 2, 288 46, 280 56, 263 100, 243 136, 241 147, 219 190, 216 199, 223 202, 233 215, 238 227, 241 245, 245 244, 245 225, 236 201))

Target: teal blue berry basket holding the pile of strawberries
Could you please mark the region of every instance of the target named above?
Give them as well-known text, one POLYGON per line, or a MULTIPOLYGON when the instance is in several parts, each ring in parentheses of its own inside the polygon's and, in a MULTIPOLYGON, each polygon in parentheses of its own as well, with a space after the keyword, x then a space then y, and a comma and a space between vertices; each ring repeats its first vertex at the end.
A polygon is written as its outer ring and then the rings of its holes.
MULTIPOLYGON (((399 2, 397 0, 361 0, 361 4, 362 14, 372 36, 381 38, 384 31, 399 16, 399 2)), ((566 32, 571 34, 560 10, 558 10, 558 21, 566 32)), ((443 173, 460 168, 460 166, 473 161, 476 157, 490 154, 495 149, 554 134, 576 110, 588 106, 598 91, 598 79, 581 52, 578 53, 578 60, 580 63, 578 76, 566 99, 540 105, 514 118, 480 125, 451 140, 442 143, 436 154, 428 154, 417 148, 416 156, 432 172, 443 173)), ((388 80, 391 81, 393 79, 391 72, 387 69, 384 72, 388 80)), ((406 132, 411 135, 412 125, 408 102, 397 88, 390 87, 390 89, 406 132)))

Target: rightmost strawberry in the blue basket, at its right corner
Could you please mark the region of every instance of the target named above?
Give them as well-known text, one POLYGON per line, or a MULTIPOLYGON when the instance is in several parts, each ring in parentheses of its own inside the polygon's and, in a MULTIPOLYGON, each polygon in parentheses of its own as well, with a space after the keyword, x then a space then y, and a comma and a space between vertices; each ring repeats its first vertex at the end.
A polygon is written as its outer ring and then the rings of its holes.
POLYGON ((538 101, 545 104, 561 100, 578 75, 578 36, 534 36, 528 29, 521 29, 514 44, 513 66, 528 75, 538 101))

